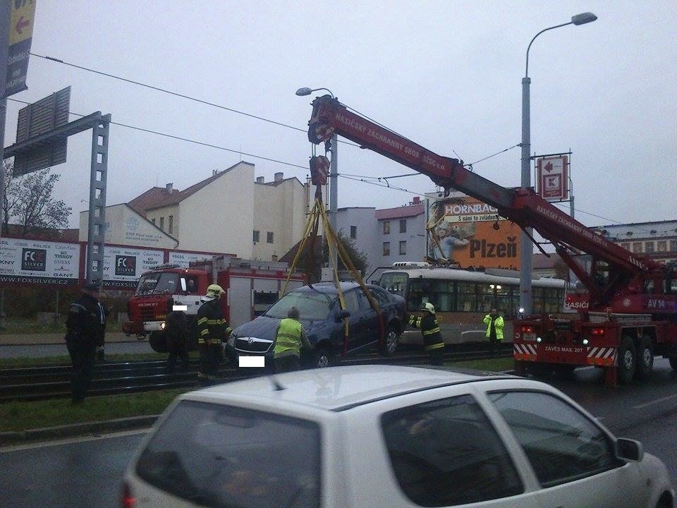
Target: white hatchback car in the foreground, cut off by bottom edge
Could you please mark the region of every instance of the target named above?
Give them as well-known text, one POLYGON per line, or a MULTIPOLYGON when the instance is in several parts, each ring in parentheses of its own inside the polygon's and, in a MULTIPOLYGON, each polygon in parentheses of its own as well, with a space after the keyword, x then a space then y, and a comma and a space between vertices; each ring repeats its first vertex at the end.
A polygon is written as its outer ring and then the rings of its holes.
POLYGON ((671 508, 664 464, 557 389, 360 365, 181 395, 126 472, 124 508, 671 508))

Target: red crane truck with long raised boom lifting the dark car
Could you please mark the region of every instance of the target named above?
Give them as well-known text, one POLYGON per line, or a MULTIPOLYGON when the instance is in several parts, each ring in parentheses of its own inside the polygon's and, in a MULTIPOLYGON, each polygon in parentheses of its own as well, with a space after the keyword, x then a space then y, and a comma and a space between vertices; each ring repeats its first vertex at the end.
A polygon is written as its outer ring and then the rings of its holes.
MULTIPOLYGON (((585 295, 571 296, 571 308, 577 311, 573 316, 529 315, 513 322, 519 375, 596 365, 606 369, 606 384, 616 385, 649 375, 654 355, 669 358, 677 370, 676 265, 640 258, 587 229, 531 188, 501 187, 466 169, 463 161, 441 157, 348 111, 330 95, 317 97, 312 107, 311 143, 336 133, 429 176, 446 195, 454 188, 482 200, 501 217, 538 231, 575 273, 585 295)), ((318 156, 313 164, 328 161, 318 156)))

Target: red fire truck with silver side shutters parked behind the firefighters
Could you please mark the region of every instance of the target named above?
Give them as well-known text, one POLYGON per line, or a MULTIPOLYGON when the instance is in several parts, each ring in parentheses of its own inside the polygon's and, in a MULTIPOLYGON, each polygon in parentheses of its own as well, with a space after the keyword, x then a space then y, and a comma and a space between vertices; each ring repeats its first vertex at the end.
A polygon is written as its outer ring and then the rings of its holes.
MULTIPOLYGON (((122 329, 138 339, 149 337, 154 351, 164 353, 165 320, 173 306, 185 306, 188 316, 190 348, 197 346, 195 316, 207 294, 209 284, 219 284, 226 291, 221 297, 224 317, 231 327, 248 322, 264 313, 279 298, 288 275, 284 262, 244 260, 215 256, 179 265, 159 265, 139 278, 134 295, 127 302, 128 322, 122 329)), ((293 274, 288 288, 305 284, 303 274, 293 274)))

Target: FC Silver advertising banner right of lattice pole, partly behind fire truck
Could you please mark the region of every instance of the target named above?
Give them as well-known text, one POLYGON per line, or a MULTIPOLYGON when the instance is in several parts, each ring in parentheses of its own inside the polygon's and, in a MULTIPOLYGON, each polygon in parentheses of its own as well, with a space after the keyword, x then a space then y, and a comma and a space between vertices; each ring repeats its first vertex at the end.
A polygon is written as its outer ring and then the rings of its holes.
POLYGON ((134 288, 140 274, 164 262, 164 250, 105 246, 104 287, 134 288))

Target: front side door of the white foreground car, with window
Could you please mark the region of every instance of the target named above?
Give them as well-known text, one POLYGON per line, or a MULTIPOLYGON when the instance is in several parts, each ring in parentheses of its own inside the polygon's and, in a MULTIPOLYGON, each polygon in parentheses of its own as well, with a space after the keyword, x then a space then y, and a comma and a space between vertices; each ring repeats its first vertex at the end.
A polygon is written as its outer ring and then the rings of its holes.
POLYGON ((489 394, 522 447, 542 490, 543 508, 617 508, 647 505, 634 463, 614 455, 604 429, 555 394, 489 394))

